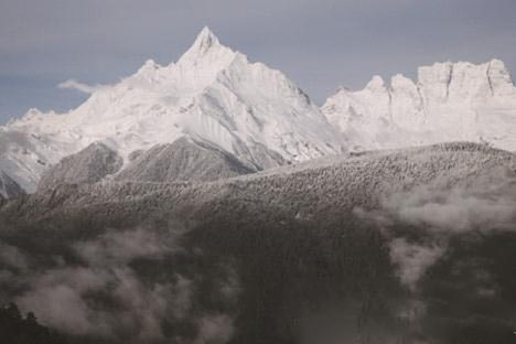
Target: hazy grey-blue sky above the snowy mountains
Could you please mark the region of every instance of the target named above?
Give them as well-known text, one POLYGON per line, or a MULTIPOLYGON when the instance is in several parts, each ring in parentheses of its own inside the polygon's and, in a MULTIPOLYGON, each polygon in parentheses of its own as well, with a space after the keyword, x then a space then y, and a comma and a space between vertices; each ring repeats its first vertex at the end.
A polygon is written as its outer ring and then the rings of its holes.
POLYGON ((318 104, 437 61, 516 71, 516 0, 0 0, 0 123, 84 101, 56 87, 66 79, 115 83, 148 58, 175 61, 204 25, 318 104))

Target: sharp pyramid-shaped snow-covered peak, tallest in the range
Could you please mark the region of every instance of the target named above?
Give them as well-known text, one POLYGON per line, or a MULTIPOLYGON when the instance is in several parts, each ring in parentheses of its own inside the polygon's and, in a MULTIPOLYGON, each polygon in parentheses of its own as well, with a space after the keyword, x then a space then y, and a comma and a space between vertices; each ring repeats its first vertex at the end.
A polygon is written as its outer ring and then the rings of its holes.
POLYGON ((0 169, 33 192, 49 166, 93 142, 127 163, 133 151, 182 137, 258 170, 343 149, 337 130, 291 80, 204 29, 178 63, 148 61, 68 114, 31 110, 0 127, 0 169))

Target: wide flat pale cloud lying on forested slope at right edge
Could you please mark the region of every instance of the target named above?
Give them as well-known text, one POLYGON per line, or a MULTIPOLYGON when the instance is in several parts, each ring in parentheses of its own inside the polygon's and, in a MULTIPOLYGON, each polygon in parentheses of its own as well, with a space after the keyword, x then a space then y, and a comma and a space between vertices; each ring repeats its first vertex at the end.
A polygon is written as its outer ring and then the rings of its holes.
POLYGON ((384 202, 390 216, 441 234, 516 230, 516 175, 499 170, 473 185, 452 189, 420 186, 384 202))

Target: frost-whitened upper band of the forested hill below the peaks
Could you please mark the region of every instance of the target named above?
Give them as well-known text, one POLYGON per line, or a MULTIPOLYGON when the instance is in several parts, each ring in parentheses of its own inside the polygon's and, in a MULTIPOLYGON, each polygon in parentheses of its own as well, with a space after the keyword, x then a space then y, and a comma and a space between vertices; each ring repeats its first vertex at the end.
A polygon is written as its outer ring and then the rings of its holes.
POLYGON ((37 218, 80 211, 114 216, 116 222, 184 209, 195 216, 196 212, 246 207, 259 213, 261 207, 272 206, 284 216, 311 218, 356 207, 374 209, 393 193, 418 185, 447 189, 499 170, 515 173, 516 155, 484 144, 455 142, 323 158, 212 183, 63 184, 53 192, 7 204, 1 213, 37 218))

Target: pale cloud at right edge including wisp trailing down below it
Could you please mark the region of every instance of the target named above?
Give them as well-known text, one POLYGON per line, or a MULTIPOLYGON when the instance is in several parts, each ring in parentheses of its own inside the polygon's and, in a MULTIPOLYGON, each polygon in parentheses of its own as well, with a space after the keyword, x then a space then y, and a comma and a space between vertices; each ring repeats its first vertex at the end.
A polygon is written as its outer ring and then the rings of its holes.
MULTIPOLYGON (((474 182, 419 185, 385 198, 378 211, 357 209, 372 216, 390 237, 390 260, 401 283, 417 290, 427 270, 441 259, 456 234, 516 232, 516 174, 505 168, 479 175, 474 182), (430 237, 411 243, 398 237, 398 226, 410 225, 430 237)), ((401 234, 404 235, 404 234, 401 234)), ((487 291, 490 292, 490 291, 487 291)))

